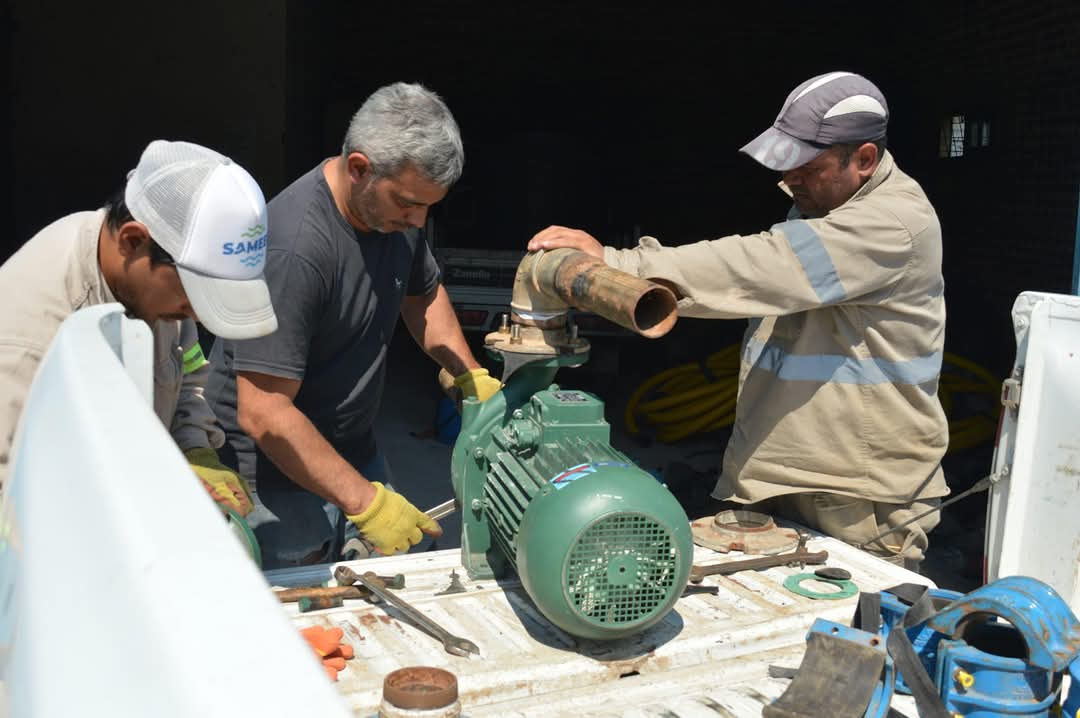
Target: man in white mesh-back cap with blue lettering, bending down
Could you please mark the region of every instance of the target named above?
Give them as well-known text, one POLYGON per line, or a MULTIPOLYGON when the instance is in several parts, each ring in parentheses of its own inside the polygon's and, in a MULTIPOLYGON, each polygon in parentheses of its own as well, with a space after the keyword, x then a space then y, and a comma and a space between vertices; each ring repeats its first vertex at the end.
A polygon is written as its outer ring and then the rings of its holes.
POLYGON ((262 191, 243 167, 199 145, 156 140, 104 207, 63 217, 23 245, 0 267, 0 482, 60 323, 118 301, 153 329, 156 414, 211 496, 247 514, 246 486, 215 451, 225 436, 203 397, 210 367, 195 321, 234 339, 276 328, 266 234, 262 191))

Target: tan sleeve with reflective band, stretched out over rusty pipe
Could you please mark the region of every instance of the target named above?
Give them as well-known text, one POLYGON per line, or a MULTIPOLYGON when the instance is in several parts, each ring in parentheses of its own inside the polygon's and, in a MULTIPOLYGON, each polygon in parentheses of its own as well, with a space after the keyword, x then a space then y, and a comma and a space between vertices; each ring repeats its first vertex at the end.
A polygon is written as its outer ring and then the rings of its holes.
POLYGON ((843 207, 759 234, 677 247, 644 236, 634 249, 604 248, 608 265, 674 284, 679 314, 713 319, 794 314, 859 303, 872 294, 879 301, 903 276, 910 256, 910 234, 894 217, 843 207))

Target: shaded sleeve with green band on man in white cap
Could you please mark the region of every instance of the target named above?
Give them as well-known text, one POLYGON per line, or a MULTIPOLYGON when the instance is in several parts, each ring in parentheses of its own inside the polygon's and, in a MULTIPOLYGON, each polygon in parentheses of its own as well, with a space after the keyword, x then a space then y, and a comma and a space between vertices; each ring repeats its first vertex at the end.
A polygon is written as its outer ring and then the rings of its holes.
POLYGON ((199 330, 191 320, 180 323, 180 350, 183 378, 168 432, 181 451, 207 446, 220 448, 225 433, 204 396, 210 362, 202 353, 199 330))

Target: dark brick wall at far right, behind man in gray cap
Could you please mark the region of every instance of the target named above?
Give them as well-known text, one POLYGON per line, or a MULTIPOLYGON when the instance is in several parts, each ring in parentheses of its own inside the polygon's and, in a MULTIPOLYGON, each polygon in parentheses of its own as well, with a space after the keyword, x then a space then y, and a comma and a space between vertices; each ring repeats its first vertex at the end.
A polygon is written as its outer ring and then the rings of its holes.
POLYGON ((949 344, 1001 372, 1014 349, 1008 312, 1016 294, 1071 285, 1080 5, 941 3, 908 28, 906 94, 918 113, 908 124, 919 137, 908 164, 945 230, 949 344), (950 113, 988 119, 990 146, 940 159, 936 123, 950 113))

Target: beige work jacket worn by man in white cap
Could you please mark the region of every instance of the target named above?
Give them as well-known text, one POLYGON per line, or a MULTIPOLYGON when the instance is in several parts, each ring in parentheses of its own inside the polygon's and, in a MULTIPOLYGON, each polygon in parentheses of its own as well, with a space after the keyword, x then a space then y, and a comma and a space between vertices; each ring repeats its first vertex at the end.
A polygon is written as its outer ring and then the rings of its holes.
MULTIPOLYGON (((30 382, 60 323, 84 307, 117 301, 97 263, 104 220, 104 209, 63 217, 0 267, 0 484, 30 382)), ((157 322, 153 338, 158 418, 180 450, 220 447, 225 436, 203 397, 210 365, 194 322, 157 322)))

